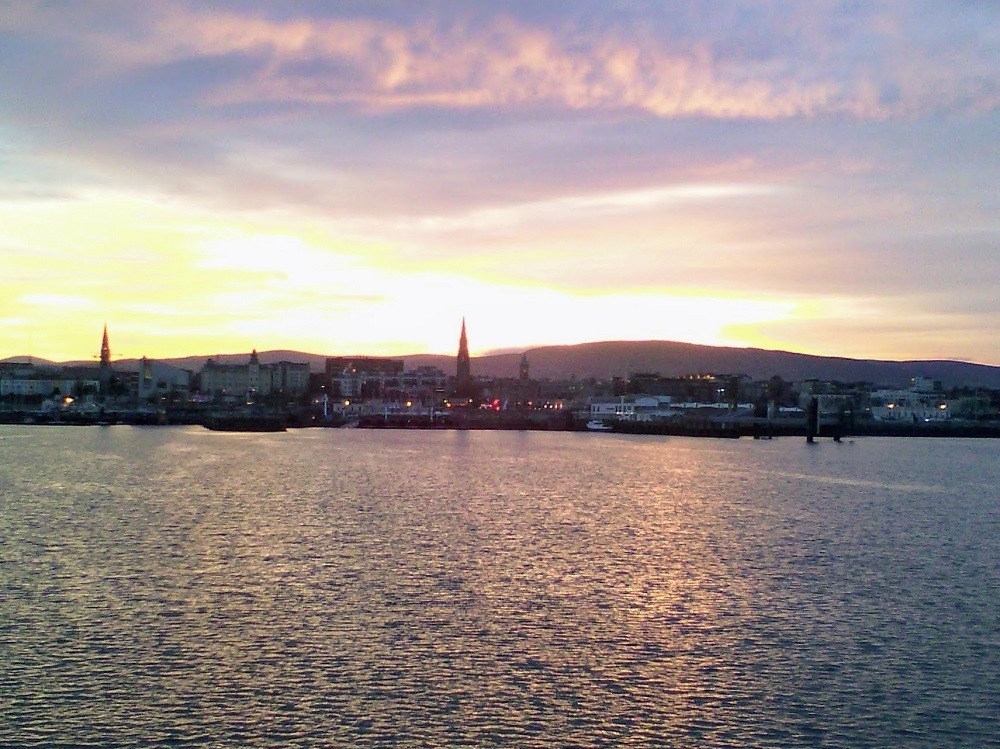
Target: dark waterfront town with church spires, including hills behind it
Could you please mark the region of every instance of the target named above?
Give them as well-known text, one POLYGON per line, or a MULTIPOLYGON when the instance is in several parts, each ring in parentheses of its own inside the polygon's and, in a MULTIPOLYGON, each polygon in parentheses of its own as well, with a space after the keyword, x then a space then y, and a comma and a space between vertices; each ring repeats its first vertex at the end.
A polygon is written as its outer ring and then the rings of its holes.
MULTIPOLYGON (((473 371, 463 318, 454 357, 323 356, 317 367, 315 355, 275 351, 268 356, 254 349, 249 355, 181 360, 143 357, 131 367, 122 366, 125 360, 118 366, 112 361, 105 325, 96 365, 0 362, 0 420, 197 423, 223 431, 285 431, 289 422, 307 427, 356 421, 371 428, 634 428, 689 436, 745 431, 760 437, 761 425, 754 420, 765 419, 773 427, 771 420, 783 413, 786 419, 807 414, 804 429, 813 442, 821 431, 820 414, 826 413, 836 417, 839 426, 832 436, 837 440, 857 428, 857 414, 874 434, 926 433, 948 424, 949 430, 964 425, 952 435, 995 436, 979 422, 996 420, 1000 367, 731 353, 738 351, 603 342, 481 357, 476 369, 483 371, 473 371), (553 361, 554 352, 568 356, 557 353, 553 361), (516 375, 502 371, 513 369, 512 359, 516 375), (541 360, 541 376, 537 370, 532 376, 533 359, 541 360), (498 367, 498 360, 506 361, 498 367), (272 413, 264 412, 268 408, 272 413), (709 413, 717 420, 714 428, 704 422, 709 413), (734 425, 723 422, 737 418, 745 421, 740 430, 725 431, 734 425), (886 427, 886 432, 874 422, 905 428, 886 427)), ((793 422, 786 420, 783 433, 802 431, 803 425, 793 422)))

